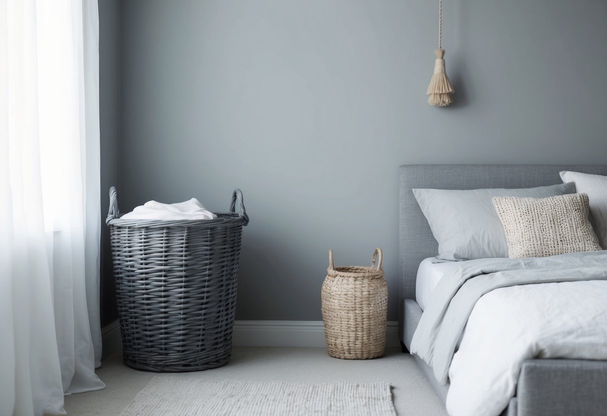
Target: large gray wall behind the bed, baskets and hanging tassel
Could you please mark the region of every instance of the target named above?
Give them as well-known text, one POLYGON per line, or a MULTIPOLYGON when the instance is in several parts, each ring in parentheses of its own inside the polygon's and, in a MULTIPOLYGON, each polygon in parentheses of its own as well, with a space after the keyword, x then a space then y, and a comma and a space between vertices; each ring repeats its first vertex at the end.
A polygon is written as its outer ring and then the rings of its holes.
POLYGON ((381 246, 395 320, 400 164, 607 158, 607 2, 446 1, 446 109, 436 3, 124 1, 123 212, 240 187, 238 319, 319 320, 327 250, 381 246))

